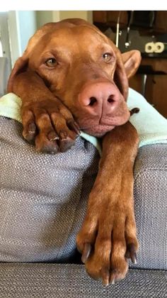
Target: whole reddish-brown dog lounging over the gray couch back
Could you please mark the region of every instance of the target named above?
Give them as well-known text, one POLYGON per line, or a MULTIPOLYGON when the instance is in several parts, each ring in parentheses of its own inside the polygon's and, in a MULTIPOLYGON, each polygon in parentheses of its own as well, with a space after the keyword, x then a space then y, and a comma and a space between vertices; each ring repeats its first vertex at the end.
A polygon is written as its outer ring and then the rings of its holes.
POLYGON ((128 122, 126 100, 127 79, 140 59, 138 51, 121 55, 95 26, 69 19, 48 23, 33 35, 8 82, 8 92, 23 101, 23 136, 35 140, 38 150, 64 152, 79 128, 103 137, 98 176, 76 244, 88 274, 104 285, 125 277, 127 258, 136 262, 138 136, 128 122))

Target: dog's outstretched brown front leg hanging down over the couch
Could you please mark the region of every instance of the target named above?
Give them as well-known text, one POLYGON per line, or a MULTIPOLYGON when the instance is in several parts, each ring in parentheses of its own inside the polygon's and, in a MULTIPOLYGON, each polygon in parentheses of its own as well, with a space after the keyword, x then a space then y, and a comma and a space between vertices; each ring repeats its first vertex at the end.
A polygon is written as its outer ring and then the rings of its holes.
POLYGON ((104 285, 125 277, 127 258, 136 263, 133 166, 138 143, 137 131, 129 122, 103 138, 98 176, 76 238, 86 271, 104 285))

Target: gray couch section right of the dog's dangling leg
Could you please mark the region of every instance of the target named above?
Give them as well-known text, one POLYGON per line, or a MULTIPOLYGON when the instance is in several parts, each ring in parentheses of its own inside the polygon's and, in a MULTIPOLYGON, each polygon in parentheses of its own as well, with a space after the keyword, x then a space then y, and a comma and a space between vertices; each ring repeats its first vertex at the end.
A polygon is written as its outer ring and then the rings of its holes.
POLYGON ((139 149, 134 166, 134 208, 139 238, 136 267, 167 269, 167 145, 139 149))

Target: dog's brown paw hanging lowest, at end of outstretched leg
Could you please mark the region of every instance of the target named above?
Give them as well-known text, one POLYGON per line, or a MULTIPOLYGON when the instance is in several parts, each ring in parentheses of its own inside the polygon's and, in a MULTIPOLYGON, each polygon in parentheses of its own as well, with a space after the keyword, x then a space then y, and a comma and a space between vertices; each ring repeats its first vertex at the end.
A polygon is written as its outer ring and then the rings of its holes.
POLYGON ((138 242, 132 209, 105 203, 88 209, 76 243, 88 275, 108 285, 125 277, 127 258, 136 263, 138 242))

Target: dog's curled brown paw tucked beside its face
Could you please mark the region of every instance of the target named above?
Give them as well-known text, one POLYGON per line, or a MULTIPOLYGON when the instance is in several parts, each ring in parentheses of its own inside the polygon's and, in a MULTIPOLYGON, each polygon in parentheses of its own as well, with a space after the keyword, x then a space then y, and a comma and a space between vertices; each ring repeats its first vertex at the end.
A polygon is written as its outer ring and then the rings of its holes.
POLYGON ((79 135, 78 124, 58 99, 25 104, 21 116, 23 138, 43 153, 65 152, 79 135))

